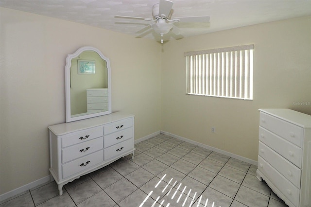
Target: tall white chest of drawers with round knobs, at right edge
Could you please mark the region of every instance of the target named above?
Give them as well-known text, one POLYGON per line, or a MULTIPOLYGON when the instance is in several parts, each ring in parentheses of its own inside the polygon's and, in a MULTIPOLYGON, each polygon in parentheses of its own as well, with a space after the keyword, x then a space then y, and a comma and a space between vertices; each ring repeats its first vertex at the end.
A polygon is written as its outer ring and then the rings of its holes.
POLYGON ((290 207, 311 207, 311 116, 259 109, 257 178, 290 207))

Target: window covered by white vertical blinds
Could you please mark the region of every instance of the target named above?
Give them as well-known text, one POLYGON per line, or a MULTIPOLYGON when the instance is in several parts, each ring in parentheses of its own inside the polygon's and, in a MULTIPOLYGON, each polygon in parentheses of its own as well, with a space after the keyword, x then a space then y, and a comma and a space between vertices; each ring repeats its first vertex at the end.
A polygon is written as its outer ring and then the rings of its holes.
POLYGON ((187 94, 253 99, 254 45, 185 52, 187 94))

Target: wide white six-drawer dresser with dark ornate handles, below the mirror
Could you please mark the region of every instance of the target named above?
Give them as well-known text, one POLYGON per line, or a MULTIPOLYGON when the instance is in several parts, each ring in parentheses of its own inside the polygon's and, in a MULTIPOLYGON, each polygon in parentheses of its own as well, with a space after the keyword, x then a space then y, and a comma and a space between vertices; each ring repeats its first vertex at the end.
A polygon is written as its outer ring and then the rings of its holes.
POLYGON ((131 153, 134 158, 131 114, 116 112, 49 126, 49 130, 50 172, 60 195, 68 182, 131 153))

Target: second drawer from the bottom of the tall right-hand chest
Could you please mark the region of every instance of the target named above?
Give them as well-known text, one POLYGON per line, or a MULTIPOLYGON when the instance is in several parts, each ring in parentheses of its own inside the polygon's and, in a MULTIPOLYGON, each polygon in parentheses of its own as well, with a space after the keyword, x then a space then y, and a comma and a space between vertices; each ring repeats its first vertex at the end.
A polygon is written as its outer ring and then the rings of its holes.
POLYGON ((300 189, 301 170, 259 141, 259 155, 300 189))

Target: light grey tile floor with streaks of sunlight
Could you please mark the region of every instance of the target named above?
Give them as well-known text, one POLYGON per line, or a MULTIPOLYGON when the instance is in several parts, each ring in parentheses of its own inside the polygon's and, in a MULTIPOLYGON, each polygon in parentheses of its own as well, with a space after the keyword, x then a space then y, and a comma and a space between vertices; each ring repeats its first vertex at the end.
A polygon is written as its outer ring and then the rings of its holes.
POLYGON ((64 186, 27 190, 0 207, 286 207, 257 166, 163 134, 64 186))

